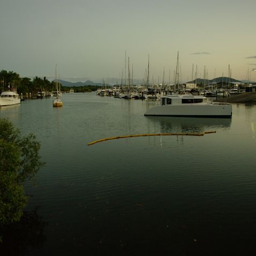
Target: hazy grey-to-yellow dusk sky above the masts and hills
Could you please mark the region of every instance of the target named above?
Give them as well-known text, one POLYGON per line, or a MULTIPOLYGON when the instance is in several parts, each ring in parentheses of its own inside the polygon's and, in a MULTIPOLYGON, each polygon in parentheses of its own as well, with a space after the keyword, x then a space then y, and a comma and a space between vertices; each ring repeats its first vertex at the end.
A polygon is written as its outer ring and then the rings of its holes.
POLYGON ((228 76, 256 80, 256 0, 0 0, 0 70, 116 82, 228 76), (127 76, 127 71, 126 71, 127 76), (113 81, 114 80, 114 81, 113 81))

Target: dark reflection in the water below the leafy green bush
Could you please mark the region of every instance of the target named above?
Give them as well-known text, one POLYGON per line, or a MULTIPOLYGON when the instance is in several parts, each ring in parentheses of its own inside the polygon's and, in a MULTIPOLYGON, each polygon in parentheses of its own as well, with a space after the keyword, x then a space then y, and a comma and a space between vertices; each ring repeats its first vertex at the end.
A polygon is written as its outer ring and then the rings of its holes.
POLYGON ((43 231, 47 223, 37 211, 38 208, 24 212, 19 222, 1 227, 0 255, 25 255, 31 249, 42 247, 46 241, 43 231))

